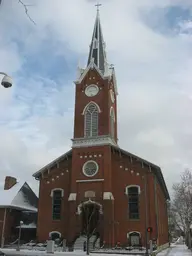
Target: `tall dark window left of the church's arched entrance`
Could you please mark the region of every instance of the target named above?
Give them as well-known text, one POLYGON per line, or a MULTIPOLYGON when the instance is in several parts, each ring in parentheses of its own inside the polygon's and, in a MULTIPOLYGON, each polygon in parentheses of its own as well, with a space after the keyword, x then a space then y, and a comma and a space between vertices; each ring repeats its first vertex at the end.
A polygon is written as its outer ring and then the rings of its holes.
POLYGON ((52 217, 53 217, 53 220, 60 220, 61 205, 62 205, 62 190, 54 190, 52 194, 53 194, 52 217))

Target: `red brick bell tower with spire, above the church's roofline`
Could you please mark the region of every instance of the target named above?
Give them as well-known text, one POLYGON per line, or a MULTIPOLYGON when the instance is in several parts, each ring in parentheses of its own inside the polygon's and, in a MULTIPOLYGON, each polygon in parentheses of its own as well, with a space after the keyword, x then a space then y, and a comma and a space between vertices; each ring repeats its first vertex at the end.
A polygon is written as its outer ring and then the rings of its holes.
POLYGON ((107 62, 98 5, 87 67, 84 69, 78 67, 75 85, 72 147, 117 146, 115 70, 107 62))

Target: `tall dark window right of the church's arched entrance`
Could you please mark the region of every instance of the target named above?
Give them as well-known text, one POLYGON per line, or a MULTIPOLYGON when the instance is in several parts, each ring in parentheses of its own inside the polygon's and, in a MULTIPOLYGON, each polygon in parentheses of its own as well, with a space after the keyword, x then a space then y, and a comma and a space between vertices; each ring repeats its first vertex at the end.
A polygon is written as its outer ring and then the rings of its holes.
POLYGON ((139 187, 127 187, 129 218, 139 219, 139 187))

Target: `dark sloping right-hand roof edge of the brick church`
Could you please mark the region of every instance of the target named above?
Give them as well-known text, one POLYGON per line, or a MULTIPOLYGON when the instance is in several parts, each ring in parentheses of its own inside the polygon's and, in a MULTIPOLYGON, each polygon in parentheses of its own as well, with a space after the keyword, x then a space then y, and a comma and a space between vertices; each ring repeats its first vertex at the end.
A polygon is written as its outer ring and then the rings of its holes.
POLYGON ((155 164, 153 164, 153 163, 151 163, 151 162, 149 162, 149 161, 147 161, 147 160, 145 160, 143 158, 140 158, 140 157, 138 157, 138 156, 136 156, 136 155, 134 155, 132 153, 129 153, 128 151, 125 151, 125 150, 123 150, 123 149, 121 149, 119 147, 111 146, 111 148, 113 148, 113 149, 115 149, 117 151, 120 151, 120 152, 122 152, 123 154, 125 154, 127 156, 135 158, 135 159, 137 159, 138 161, 140 161, 143 164, 146 164, 146 165, 152 167, 152 172, 157 177, 157 180, 158 180, 158 182, 159 182, 159 184, 160 184, 160 186, 161 186, 161 188, 163 190, 163 193, 164 193, 166 199, 170 200, 169 192, 168 192, 165 180, 163 178, 163 174, 162 174, 161 168, 158 165, 155 165, 155 164))

